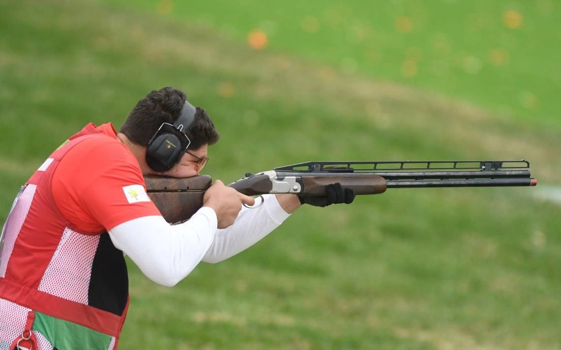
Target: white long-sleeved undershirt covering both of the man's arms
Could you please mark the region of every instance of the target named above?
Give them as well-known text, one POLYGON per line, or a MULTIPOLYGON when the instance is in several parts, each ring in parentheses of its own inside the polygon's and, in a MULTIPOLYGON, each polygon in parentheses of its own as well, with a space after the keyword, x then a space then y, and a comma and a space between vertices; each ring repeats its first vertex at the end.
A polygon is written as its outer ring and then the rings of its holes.
POLYGON ((217 263, 249 248, 289 216, 274 194, 256 208, 243 207, 232 226, 218 229, 216 213, 200 208, 190 220, 169 225, 162 216, 145 216, 109 230, 113 244, 152 281, 174 286, 199 262, 217 263))

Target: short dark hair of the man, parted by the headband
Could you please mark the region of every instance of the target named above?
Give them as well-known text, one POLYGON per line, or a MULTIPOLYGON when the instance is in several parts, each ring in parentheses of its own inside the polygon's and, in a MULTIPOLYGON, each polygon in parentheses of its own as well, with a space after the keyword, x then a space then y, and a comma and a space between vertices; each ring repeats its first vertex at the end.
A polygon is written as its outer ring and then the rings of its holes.
MULTIPOLYGON (((186 100, 185 92, 173 87, 153 90, 131 110, 119 132, 146 147, 162 123, 173 124, 179 118, 186 100)), ((203 144, 215 144, 220 138, 210 116, 200 107, 196 108, 195 120, 187 129, 187 136, 191 140, 191 150, 197 150, 203 144)))

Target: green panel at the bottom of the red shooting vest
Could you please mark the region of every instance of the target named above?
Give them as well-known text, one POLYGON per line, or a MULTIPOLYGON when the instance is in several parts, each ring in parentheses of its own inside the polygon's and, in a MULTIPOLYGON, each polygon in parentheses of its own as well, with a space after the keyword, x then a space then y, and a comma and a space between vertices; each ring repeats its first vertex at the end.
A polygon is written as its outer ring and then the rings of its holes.
POLYGON ((58 350, 107 350, 112 339, 107 334, 36 311, 32 329, 43 334, 58 350))

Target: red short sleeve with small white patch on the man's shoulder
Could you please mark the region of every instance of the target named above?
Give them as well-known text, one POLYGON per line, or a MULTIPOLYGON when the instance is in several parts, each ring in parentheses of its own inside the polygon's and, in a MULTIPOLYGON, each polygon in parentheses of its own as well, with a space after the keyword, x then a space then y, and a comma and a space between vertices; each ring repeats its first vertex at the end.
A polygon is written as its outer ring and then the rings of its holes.
POLYGON ((62 157, 52 179, 53 197, 63 215, 88 232, 137 216, 158 215, 144 186, 134 154, 119 139, 107 136, 75 144, 62 157))

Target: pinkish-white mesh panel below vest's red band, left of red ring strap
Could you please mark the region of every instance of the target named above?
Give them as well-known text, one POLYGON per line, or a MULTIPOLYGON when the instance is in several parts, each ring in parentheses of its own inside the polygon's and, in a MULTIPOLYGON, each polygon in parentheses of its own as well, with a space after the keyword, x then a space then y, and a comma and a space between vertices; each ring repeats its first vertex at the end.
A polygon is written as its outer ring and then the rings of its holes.
POLYGON ((13 340, 25 330, 27 312, 26 307, 0 298, 0 350, 9 350, 13 340))

